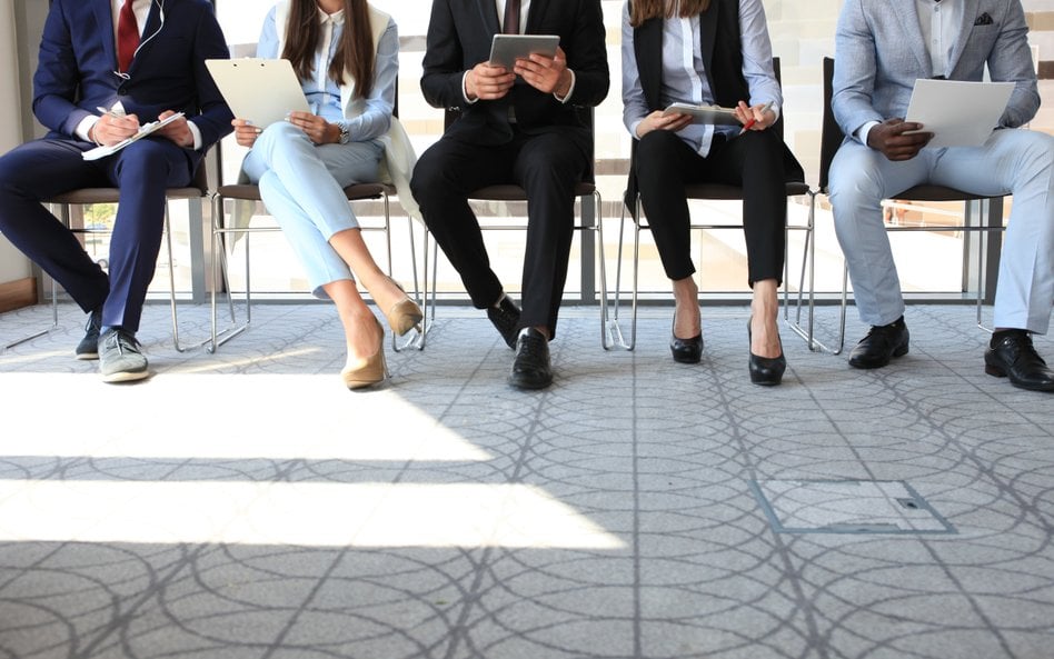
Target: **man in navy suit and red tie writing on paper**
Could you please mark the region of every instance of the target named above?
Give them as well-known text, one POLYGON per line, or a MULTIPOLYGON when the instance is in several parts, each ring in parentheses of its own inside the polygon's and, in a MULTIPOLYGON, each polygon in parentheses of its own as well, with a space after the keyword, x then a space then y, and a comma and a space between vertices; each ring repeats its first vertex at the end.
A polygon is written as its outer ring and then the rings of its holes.
POLYGON ((136 332, 161 246, 165 190, 190 184, 205 152, 232 129, 205 67, 228 57, 208 0, 51 3, 33 77, 33 112, 49 132, 0 157, 0 232, 89 313, 76 356, 98 358, 107 382, 149 376, 136 332), (185 117, 152 136, 84 160, 84 151, 177 112, 185 117), (109 274, 40 204, 88 187, 120 189, 109 274))

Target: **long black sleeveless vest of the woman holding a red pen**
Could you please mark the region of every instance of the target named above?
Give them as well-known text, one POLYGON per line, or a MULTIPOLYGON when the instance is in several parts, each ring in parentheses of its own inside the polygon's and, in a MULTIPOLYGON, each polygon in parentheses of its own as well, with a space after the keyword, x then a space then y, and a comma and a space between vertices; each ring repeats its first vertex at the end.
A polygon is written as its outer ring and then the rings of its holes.
MULTIPOLYGON (((718 106, 730 108, 740 100, 750 97, 749 86, 743 77, 743 51, 740 50, 739 33, 739 0, 716 0, 709 9, 699 16, 699 44, 703 49, 703 66, 706 70, 707 82, 714 92, 718 106)), ((663 83, 663 19, 646 20, 640 27, 634 28, 634 54, 637 58, 637 69, 640 74, 640 88, 648 109, 662 110, 659 103, 659 88, 663 83)), ((783 117, 772 128, 776 136, 783 139, 783 117)), ((633 141, 629 158, 629 181, 626 186, 626 206, 636 209, 637 177, 636 177, 637 140, 633 141)), ((787 182, 805 180, 802 164, 784 143, 784 170, 787 182)))

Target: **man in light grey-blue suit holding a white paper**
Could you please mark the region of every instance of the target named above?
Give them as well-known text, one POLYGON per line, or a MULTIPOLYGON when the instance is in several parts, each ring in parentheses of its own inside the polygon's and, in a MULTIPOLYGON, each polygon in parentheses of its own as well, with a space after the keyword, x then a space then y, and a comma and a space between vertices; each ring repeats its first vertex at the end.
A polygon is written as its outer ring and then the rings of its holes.
POLYGON ((907 353, 879 203, 929 182, 1014 196, 985 372, 1054 391, 1054 372, 1031 338, 1046 333, 1054 303, 1054 138, 1015 130, 1040 107, 1027 31, 1020 0, 846 0, 832 107, 848 137, 832 162, 829 189, 861 319, 872 326, 851 366, 879 368, 907 353), (985 64, 992 80, 1015 83, 1000 129, 981 147, 925 148, 933 133, 902 119, 915 80, 981 80, 985 64))

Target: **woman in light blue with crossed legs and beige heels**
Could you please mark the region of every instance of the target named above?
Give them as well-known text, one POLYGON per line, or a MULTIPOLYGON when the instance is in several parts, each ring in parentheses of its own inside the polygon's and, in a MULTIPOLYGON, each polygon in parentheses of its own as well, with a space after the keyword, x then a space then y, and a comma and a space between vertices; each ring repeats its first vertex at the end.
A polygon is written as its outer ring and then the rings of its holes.
POLYGON ((267 17, 257 54, 292 62, 311 112, 265 130, 235 119, 242 168, 308 271, 315 294, 337 307, 347 339, 341 378, 349 389, 385 379, 384 328, 355 278, 406 333, 420 309, 374 261, 344 193, 375 182, 398 76, 395 22, 366 0, 281 0, 267 17))

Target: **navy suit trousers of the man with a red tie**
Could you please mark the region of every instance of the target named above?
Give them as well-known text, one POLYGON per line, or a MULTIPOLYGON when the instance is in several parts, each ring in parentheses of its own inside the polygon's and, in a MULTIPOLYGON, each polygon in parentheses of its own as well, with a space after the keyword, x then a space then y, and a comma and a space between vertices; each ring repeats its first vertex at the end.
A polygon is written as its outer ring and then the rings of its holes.
POLYGON ((190 183, 197 159, 163 138, 145 138, 118 153, 86 161, 91 144, 41 139, 0 157, 0 233, 40 266, 84 311, 102 306, 102 323, 139 329, 165 223, 165 190, 190 183), (119 188, 110 239, 110 274, 40 203, 80 188, 119 188))

